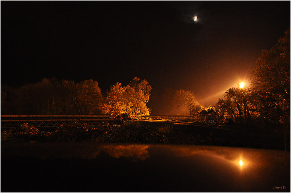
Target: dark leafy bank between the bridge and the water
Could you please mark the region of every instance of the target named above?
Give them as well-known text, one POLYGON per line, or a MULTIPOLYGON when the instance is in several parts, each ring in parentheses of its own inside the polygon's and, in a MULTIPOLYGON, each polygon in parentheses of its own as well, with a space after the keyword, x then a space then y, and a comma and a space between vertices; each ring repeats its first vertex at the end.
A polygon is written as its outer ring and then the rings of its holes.
MULTIPOLYGON (((279 129, 174 120, 102 122, 94 127, 76 121, 58 128, 23 124, 1 132, 2 143, 165 143, 284 150, 284 135, 279 129)), ((290 150, 290 133, 287 136, 286 146, 290 150)))

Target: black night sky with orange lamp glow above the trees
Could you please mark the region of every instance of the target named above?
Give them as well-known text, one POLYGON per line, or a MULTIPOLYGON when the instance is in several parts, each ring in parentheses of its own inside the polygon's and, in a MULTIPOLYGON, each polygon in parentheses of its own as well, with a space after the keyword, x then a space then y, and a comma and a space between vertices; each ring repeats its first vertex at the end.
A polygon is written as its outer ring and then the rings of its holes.
POLYGON ((1 1, 1 85, 139 77, 152 114, 166 88, 214 105, 288 26, 290 1, 1 1))

